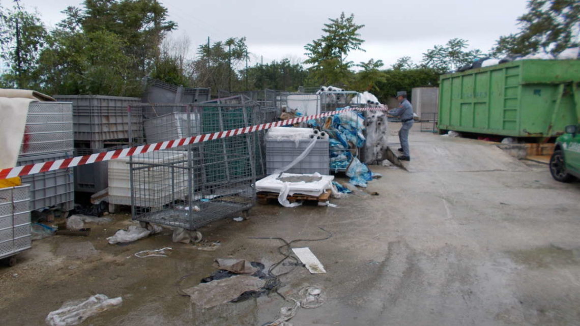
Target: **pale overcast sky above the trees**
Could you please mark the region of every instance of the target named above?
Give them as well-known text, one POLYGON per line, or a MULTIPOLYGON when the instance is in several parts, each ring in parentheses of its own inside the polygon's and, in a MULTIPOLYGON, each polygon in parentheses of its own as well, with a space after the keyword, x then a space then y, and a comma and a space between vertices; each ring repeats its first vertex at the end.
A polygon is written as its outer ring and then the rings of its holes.
MULTIPOLYGON (((12 0, 0 0, 9 6, 12 0)), ((52 27, 63 18, 61 10, 81 0, 20 0, 36 8, 52 27)), ((341 12, 354 13, 367 52, 353 52, 358 63, 382 59, 386 67, 399 57, 420 61, 422 53, 451 38, 464 38, 471 48, 487 52, 500 35, 517 31, 516 18, 525 12, 526 0, 160 0, 169 19, 179 25, 176 37, 187 35, 192 51, 198 45, 228 37, 247 37, 253 63, 289 57, 303 60, 304 45, 322 35, 322 24, 341 12)))

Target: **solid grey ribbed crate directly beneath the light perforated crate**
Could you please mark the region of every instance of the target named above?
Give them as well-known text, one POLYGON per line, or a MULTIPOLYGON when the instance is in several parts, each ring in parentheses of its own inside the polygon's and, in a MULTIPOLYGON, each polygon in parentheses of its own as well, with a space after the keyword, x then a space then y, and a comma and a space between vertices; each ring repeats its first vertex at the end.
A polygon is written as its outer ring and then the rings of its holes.
MULTIPOLYGON (((21 156, 18 165, 64 160, 73 157, 73 151, 46 155, 21 156)), ((66 211, 74 208, 73 169, 57 169, 21 176, 23 183, 30 184, 30 208, 41 209, 60 205, 66 211)))

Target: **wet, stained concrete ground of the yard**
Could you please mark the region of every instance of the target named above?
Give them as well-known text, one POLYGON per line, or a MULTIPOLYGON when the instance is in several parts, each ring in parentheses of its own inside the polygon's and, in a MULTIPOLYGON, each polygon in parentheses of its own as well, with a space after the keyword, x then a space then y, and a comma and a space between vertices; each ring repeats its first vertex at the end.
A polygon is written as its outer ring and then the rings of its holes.
POLYGON ((105 238, 131 223, 122 214, 91 226, 90 237, 35 241, 16 266, 0 267, 2 324, 42 325, 67 300, 105 294, 122 296, 122 306, 84 324, 263 325, 289 305, 280 296, 202 310, 177 283, 198 284, 215 258, 281 258, 279 241, 248 237, 319 238, 324 227, 332 238, 296 247, 310 247, 327 273, 298 267, 281 277, 282 294, 316 285, 327 296, 298 310, 296 326, 580 325, 580 183, 558 183, 546 165, 491 144, 418 131, 410 172, 372 166, 383 175, 369 183, 378 195, 332 200, 339 208, 258 205, 248 220, 201 230, 222 242, 215 251, 173 244, 168 231, 109 245, 105 238), (133 256, 162 247, 173 248, 168 258, 133 256))

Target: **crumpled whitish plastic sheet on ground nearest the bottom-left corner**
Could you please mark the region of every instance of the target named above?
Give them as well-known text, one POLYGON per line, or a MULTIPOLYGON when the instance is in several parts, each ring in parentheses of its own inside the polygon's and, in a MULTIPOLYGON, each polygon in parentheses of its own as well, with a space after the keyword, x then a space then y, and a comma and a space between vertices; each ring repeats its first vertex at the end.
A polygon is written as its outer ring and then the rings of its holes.
POLYGON ((86 318, 105 310, 121 305, 123 299, 109 299, 104 294, 90 296, 88 299, 64 303, 59 310, 51 311, 46 316, 46 324, 50 326, 73 326, 81 324, 86 318))

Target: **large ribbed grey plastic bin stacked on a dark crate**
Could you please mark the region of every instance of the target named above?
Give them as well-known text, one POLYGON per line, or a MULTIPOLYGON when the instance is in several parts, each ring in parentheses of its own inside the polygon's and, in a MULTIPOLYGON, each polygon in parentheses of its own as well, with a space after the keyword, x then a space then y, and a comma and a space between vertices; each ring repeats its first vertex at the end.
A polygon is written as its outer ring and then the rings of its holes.
POLYGON ((128 139, 129 121, 133 137, 142 135, 141 102, 137 97, 103 95, 56 95, 60 101, 73 103, 74 140, 102 142, 110 139, 128 139))

